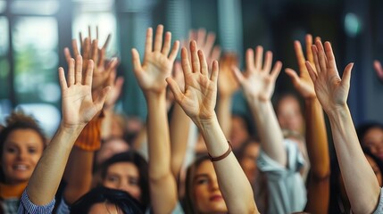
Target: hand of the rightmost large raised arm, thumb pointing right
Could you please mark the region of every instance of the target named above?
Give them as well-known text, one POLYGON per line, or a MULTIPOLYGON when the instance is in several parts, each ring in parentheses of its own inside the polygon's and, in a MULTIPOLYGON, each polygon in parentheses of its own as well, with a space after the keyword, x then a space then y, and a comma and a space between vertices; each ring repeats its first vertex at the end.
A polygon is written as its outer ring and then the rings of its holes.
POLYGON ((341 79, 329 42, 325 42, 323 48, 321 41, 315 41, 315 45, 312 45, 312 53, 316 70, 312 68, 310 62, 305 64, 310 78, 312 78, 318 100, 324 111, 329 114, 329 112, 337 110, 338 107, 346 106, 354 63, 349 63, 346 66, 341 79))

